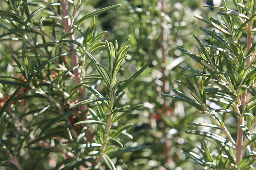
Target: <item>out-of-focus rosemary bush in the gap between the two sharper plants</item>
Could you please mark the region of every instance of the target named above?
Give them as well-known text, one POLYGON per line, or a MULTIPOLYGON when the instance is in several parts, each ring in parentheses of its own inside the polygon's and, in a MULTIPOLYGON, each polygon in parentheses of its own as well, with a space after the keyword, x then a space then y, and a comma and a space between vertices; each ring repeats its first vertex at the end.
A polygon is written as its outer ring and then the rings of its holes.
MULTIPOLYGON (((144 77, 140 76, 128 86, 127 92, 130 100, 144 106, 141 108, 143 112, 133 115, 138 121, 132 134, 134 141, 150 145, 146 149, 150 154, 140 159, 140 167, 147 169, 150 160, 158 169, 198 169, 200 166, 190 160, 184 150, 191 150, 196 145, 196 137, 185 131, 188 130, 186 124, 194 121, 200 113, 184 102, 160 95, 169 93, 172 88, 186 90, 175 82, 183 77, 178 65, 200 69, 196 62, 184 57, 178 47, 195 51, 196 40, 192 33, 200 33, 198 25, 201 23, 193 14, 211 16, 215 15, 214 11, 201 9, 200 0, 119 0, 117 3, 123 5, 109 12, 110 16, 118 14, 116 17, 100 18, 106 29, 115 30, 109 37, 120 41, 124 35, 131 36, 129 54, 132 57, 125 63, 128 68, 151 62, 144 77), (185 113, 184 110, 188 109, 185 113)), ((122 75, 125 76, 126 72, 122 75)))

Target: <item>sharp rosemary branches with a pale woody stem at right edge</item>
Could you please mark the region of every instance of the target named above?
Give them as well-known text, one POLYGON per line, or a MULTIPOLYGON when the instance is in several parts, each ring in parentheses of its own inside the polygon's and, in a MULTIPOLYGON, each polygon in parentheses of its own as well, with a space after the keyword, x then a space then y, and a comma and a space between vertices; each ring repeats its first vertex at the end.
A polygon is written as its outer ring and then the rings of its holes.
MULTIPOLYGON (((162 96, 182 100, 201 111, 204 119, 198 130, 188 134, 202 136, 197 151, 188 155, 204 169, 254 169, 255 139, 255 47, 254 18, 256 1, 233 0, 237 11, 228 9, 225 0, 216 18, 195 16, 207 23, 202 31, 209 35, 208 43, 198 42, 198 54, 179 48, 202 68, 183 68, 184 81, 190 95, 173 90, 162 96), (186 72, 190 72, 190 75, 186 72), (212 123, 207 122, 208 118, 212 123), (204 127, 209 127, 208 130, 204 127), (247 144, 249 143, 249 145, 247 144), (217 152, 216 152, 217 151, 217 152)), ((209 6, 206 6, 209 7, 209 6)))

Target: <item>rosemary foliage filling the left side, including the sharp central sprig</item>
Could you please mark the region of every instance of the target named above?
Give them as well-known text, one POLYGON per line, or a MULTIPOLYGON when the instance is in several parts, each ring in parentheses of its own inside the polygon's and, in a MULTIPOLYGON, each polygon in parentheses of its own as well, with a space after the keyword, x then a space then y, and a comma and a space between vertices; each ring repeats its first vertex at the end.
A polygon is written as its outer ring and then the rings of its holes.
POLYGON ((141 106, 120 100, 150 62, 130 78, 117 76, 130 37, 120 48, 102 42, 106 31, 98 33, 96 16, 121 5, 82 16, 91 8, 84 2, 4 2, 0 41, 16 49, 5 54, 12 71, 0 80, 0 168, 116 170, 119 149, 147 148, 132 145, 133 124, 122 121, 141 106))

